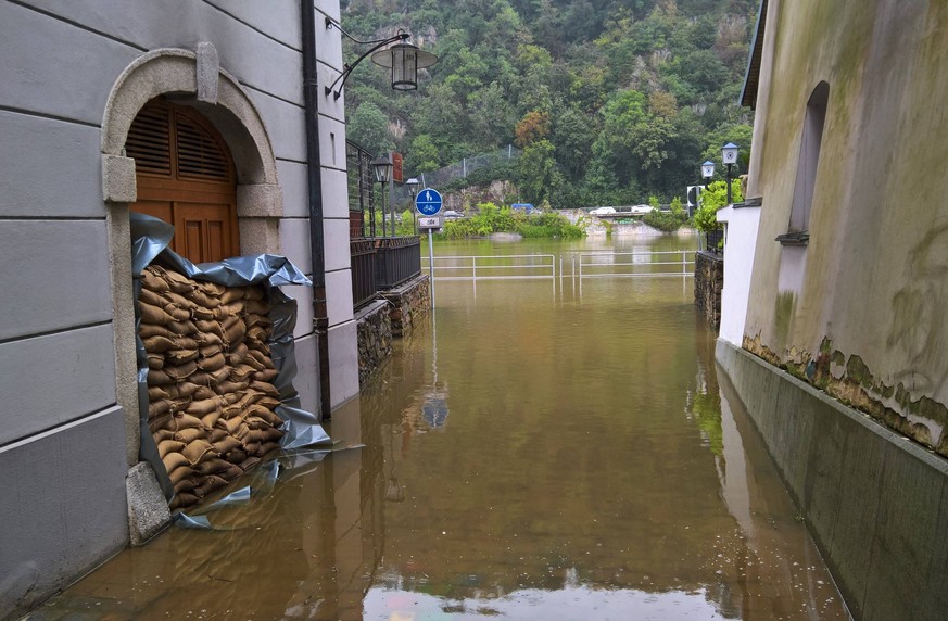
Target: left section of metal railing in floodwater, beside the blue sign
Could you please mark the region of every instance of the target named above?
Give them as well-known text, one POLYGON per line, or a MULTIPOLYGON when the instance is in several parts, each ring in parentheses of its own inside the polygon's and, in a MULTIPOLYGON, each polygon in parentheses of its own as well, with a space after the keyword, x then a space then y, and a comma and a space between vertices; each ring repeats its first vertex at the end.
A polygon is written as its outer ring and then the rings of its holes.
POLYGON ((427 256, 422 262, 438 280, 556 279, 556 256, 552 254, 435 256, 433 270, 427 256))

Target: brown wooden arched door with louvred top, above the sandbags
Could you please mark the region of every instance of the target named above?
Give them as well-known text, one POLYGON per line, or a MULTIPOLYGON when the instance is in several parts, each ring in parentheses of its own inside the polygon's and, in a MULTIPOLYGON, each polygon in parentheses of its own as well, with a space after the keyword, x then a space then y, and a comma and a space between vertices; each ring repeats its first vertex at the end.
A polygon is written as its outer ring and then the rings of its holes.
POLYGON ((130 208, 172 224, 172 250, 193 263, 240 254, 233 161, 211 123, 156 98, 131 122, 125 150, 138 188, 130 208))

